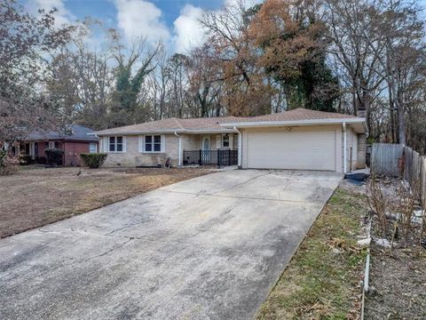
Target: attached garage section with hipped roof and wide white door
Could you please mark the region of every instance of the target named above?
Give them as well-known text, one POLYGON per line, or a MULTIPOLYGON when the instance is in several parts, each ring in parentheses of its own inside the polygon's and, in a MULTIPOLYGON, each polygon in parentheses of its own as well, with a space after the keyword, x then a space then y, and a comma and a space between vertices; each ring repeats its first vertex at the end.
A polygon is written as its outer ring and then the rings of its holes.
POLYGON ((240 133, 243 169, 349 172, 365 166, 358 148, 366 139, 363 117, 297 108, 223 126, 240 133))

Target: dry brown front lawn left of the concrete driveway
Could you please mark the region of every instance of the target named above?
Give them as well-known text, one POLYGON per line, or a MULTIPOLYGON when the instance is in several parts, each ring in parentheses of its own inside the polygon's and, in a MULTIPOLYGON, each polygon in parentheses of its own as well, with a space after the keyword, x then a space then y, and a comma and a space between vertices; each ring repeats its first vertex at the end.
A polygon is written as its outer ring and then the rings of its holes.
POLYGON ((0 237, 209 172, 201 168, 22 168, 15 175, 0 176, 0 237))

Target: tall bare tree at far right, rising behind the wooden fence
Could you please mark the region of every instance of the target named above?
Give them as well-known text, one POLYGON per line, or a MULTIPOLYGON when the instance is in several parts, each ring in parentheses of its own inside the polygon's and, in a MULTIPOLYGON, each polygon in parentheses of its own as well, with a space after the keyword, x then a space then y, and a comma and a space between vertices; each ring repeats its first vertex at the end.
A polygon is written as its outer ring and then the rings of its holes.
POLYGON ((365 30, 368 47, 378 57, 375 72, 386 81, 390 104, 398 115, 398 142, 406 144, 406 76, 424 50, 424 21, 416 2, 383 0, 370 8, 371 34, 365 30))

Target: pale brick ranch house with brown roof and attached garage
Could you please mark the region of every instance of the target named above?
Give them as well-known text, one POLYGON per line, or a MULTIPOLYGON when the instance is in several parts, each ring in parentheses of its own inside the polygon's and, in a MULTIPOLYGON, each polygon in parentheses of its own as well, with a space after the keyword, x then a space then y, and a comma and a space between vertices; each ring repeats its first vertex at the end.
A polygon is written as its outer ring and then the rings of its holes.
POLYGON ((267 116, 170 118, 95 133, 109 166, 170 161, 349 172, 365 166, 366 132, 363 117, 296 108, 267 116))

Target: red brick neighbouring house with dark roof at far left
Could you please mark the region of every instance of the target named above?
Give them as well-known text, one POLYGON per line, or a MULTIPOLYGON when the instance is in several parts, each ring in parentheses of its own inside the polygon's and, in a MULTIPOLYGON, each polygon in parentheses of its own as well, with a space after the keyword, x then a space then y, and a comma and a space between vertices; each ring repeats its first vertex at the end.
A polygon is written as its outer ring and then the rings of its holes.
POLYGON ((21 141, 16 153, 31 156, 39 164, 46 163, 45 148, 64 150, 64 165, 80 165, 80 154, 98 152, 99 138, 93 130, 78 124, 69 124, 63 132, 33 132, 21 141), (89 135, 91 134, 91 135, 89 135))

